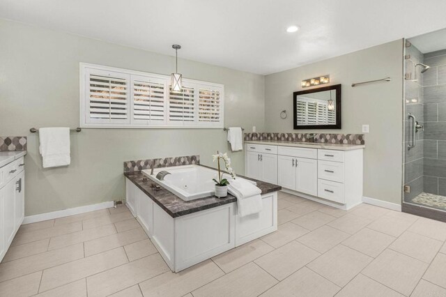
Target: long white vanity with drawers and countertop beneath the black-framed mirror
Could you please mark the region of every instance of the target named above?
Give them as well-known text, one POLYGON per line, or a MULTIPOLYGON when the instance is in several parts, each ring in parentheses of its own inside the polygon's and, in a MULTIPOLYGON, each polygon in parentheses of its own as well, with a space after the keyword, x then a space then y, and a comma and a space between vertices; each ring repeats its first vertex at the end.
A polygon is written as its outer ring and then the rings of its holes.
POLYGON ((362 203, 364 145, 245 141, 245 174, 342 209, 362 203))

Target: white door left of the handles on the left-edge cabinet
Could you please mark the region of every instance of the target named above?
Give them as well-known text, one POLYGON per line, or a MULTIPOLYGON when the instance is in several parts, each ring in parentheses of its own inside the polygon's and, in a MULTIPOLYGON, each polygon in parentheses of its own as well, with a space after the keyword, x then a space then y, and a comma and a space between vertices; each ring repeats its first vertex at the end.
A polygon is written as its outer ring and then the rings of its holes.
POLYGON ((8 246, 13 241, 15 231, 15 178, 9 181, 3 190, 5 191, 3 243, 8 246))

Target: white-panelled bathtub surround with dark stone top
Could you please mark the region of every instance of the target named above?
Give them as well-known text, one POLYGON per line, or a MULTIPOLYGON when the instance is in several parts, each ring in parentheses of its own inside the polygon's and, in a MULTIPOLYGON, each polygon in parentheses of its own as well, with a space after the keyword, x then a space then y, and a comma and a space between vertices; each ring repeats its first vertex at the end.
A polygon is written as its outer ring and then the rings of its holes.
POLYGON ((256 183, 263 210, 243 218, 232 195, 184 201, 163 186, 155 188, 140 171, 125 172, 126 204, 171 271, 178 272, 277 230, 281 187, 256 183))

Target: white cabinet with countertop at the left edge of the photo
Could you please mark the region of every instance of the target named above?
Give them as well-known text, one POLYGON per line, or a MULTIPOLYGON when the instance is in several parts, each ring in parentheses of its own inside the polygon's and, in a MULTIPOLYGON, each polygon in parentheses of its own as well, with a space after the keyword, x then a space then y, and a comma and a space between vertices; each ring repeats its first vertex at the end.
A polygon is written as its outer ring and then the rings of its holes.
POLYGON ((24 155, 0 152, 0 261, 24 219, 24 155))

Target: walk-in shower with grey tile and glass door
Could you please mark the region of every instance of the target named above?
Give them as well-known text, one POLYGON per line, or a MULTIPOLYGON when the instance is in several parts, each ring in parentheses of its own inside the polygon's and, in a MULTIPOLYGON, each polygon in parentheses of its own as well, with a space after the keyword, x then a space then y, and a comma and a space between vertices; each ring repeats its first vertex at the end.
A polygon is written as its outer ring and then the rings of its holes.
POLYGON ((403 210, 446 220, 446 29, 406 40, 404 59, 403 210))

